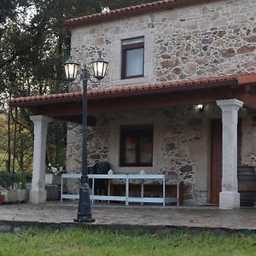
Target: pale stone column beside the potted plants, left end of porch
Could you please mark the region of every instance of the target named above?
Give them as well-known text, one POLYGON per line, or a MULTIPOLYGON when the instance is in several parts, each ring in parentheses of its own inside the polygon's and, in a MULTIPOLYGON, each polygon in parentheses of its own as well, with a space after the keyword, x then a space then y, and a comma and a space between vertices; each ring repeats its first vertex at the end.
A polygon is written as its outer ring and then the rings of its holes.
POLYGON ((44 182, 46 136, 51 118, 44 115, 32 115, 30 119, 34 123, 34 152, 32 189, 29 192, 29 201, 35 204, 46 201, 46 190, 44 182))

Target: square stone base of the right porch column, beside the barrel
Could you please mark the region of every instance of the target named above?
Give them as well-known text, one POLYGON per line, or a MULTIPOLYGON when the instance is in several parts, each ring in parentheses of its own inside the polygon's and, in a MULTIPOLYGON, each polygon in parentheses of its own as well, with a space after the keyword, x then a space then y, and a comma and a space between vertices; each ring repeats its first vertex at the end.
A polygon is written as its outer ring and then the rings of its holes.
POLYGON ((220 209, 235 209, 240 207, 240 194, 238 192, 224 191, 219 193, 220 209))

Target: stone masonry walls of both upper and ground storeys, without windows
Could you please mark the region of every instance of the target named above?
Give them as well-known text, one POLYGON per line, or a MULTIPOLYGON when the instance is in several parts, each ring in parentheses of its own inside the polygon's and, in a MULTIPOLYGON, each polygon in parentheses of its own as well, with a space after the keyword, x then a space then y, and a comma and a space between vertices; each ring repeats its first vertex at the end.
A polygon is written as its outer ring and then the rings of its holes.
MULTIPOLYGON (((256 71, 256 1, 209 1, 187 7, 135 15, 72 29, 72 55, 82 64, 97 51, 109 61, 108 76, 92 87, 147 84, 180 79, 218 77, 256 71), (120 79, 121 40, 144 36, 145 76, 120 79)), ((119 125, 154 124, 154 166, 146 172, 177 173, 188 204, 209 200, 209 123, 220 110, 195 112, 193 106, 96 114, 89 129, 89 164, 108 160, 114 172, 137 173, 142 168, 119 167, 119 125)), ((215 109, 215 110, 214 110, 215 109)), ((255 118, 242 117, 241 159, 251 164, 256 148, 247 141, 255 134, 255 118)), ((253 139, 256 141, 256 137, 253 139)), ((254 143, 255 145, 256 143, 254 143)), ((68 125, 67 172, 81 171, 81 127, 68 125)), ((71 185, 69 189, 77 186, 71 185)))

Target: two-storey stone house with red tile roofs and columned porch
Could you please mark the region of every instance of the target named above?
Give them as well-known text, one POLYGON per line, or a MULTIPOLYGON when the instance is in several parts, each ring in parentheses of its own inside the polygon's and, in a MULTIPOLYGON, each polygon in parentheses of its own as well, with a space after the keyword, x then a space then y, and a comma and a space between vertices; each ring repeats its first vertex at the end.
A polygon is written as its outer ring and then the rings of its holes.
MULTIPOLYGON (((237 165, 256 156, 255 16, 254 0, 164 0, 67 20, 76 61, 98 51, 109 61, 88 87, 90 165, 177 173, 185 204, 239 207, 237 165)), ((49 118, 69 122, 67 172, 81 171, 81 102, 81 92, 10 100, 36 109, 31 201, 44 201, 49 118)))

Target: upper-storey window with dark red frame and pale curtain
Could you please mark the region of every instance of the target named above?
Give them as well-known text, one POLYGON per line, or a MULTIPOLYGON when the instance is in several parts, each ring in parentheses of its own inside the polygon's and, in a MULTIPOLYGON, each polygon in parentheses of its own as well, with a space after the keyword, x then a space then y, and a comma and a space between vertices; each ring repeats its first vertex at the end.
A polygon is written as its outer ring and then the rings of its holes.
POLYGON ((144 37, 122 40, 121 79, 144 76, 144 37))

